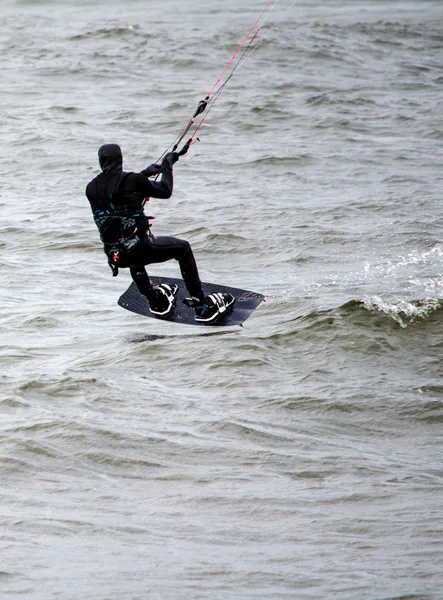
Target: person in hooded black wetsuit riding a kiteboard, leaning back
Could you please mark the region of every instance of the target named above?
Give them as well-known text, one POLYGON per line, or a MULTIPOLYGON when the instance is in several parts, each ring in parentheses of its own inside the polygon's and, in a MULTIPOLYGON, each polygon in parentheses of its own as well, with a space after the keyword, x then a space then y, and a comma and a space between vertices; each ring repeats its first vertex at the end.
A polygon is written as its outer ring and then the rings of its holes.
MULTIPOLYGON (((187 152, 189 144, 181 153, 187 152)), ((98 151, 102 173, 90 181, 86 196, 100 232, 113 275, 129 268, 139 291, 146 296, 151 312, 167 315, 174 307, 177 287, 162 283, 153 287, 145 265, 175 259, 180 264, 186 288, 191 295, 196 321, 212 321, 226 311, 235 299, 231 294, 204 296, 197 264, 189 242, 175 237, 154 237, 143 212, 146 199, 170 198, 174 186, 173 164, 177 152, 169 152, 161 165, 152 164, 140 173, 123 171, 123 156, 117 144, 105 144, 98 151), (159 175, 160 181, 149 177, 159 175)))

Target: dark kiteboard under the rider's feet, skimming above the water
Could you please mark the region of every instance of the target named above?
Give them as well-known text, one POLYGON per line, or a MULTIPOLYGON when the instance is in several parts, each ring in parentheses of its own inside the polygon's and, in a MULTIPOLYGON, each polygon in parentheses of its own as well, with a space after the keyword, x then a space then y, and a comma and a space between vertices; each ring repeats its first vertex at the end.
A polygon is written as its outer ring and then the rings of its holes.
POLYGON ((191 306, 184 302, 185 298, 189 298, 189 292, 186 289, 182 279, 174 277, 152 277, 149 276, 153 286, 160 283, 168 283, 169 285, 178 285, 176 294, 176 303, 172 311, 166 316, 154 315, 149 310, 149 304, 145 296, 138 291, 134 282, 122 294, 118 300, 119 306, 134 312, 144 317, 151 317, 161 321, 171 321, 173 323, 184 323, 187 325, 211 325, 212 327, 228 327, 232 325, 242 325, 246 319, 254 312, 257 306, 265 301, 265 297, 257 292, 242 290, 240 288, 228 287, 226 285, 217 285, 216 283, 202 283, 203 293, 205 295, 215 292, 229 292, 235 298, 235 303, 232 308, 226 311, 216 321, 204 323, 196 321, 194 318, 195 311, 191 306))

